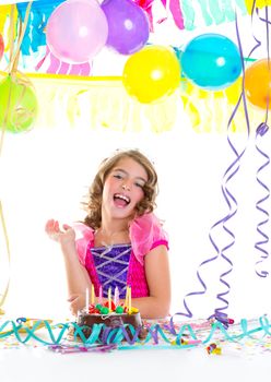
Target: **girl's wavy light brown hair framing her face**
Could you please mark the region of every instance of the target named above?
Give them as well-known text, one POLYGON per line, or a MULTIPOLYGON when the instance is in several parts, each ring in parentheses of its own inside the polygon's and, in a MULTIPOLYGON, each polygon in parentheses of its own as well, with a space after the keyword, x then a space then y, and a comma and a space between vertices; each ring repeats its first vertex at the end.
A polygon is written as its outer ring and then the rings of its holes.
POLYGON ((118 151, 113 156, 104 159, 98 168, 98 171, 89 189, 85 201, 82 202, 87 215, 84 218, 84 224, 93 229, 101 227, 102 223, 102 196, 104 183, 114 167, 122 158, 131 158, 140 164, 148 174, 148 181, 143 186, 144 198, 136 206, 136 215, 141 216, 144 213, 150 213, 155 208, 155 198, 158 193, 157 174, 153 164, 138 150, 118 151))

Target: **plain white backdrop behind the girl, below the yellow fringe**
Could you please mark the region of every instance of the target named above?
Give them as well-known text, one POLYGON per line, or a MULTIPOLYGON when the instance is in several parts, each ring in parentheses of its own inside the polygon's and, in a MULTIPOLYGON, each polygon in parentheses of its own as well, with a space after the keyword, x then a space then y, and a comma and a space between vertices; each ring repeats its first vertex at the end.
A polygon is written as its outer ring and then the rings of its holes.
MULTIPOLYGON (((254 246, 262 238, 256 231, 263 216, 256 202, 264 192, 256 181, 262 164, 255 148, 254 134, 234 134, 238 147, 247 147, 239 171, 228 182, 238 202, 237 214, 226 224, 236 237, 224 253, 234 263, 225 279, 231 284, 228 314, 235 318, 266 313, 270 303, 270 277, 259 277, 255 263, 260 253, 254 246)), ((270 134, 261 138, 261 148, 270 152, 270 134)), ((199 270, 208 293, 191 297, 188 305, 195 317, 205 318, 220 307, 217 293, 226 290, 219 282, 228 264, 219 258, 199 268, 216 254, 209 234, 212 225, 228 213, 221 192, 222 178, 234 155, 226 134, 197 134, 181 121, 167 133, 118 133, 109 130, 82 132, 39 128, 21 135, 5 135, 1 160, 1 200, 11 246, 11 286, 7 313, 22 315, 67 315, 66 279, 57 243, 44 232, 48 218, 71 223, 82 218, 80 201, 96 171, 97 164, 118 147, 141 148, 155 163, 160 177, 157 215, 169 235, 173 278, 172 312, 184 311, 186 294, 201 290, 199 270)), ((270 182, 270 168, 262 179, 270 182)), ((270 210, 270 201, 262 204, 270 210)), ((266 234, 270 232, 270 224, 266 234)), ((222 226, 212 231, 223 248, 232 241, 222 226)), ((3 243, 3 241, 1 240, 3 243)), ((270 244, 263 246, 270 251, 270 244)), ((2 252, 2 251, 1 251, 2 252)), ((2 275, 7 275, 1 254, 2 275)), ((263 263, 270 270, 270 259, 263 263)), ((1 277, 3 280, 4 277, 1 277)))

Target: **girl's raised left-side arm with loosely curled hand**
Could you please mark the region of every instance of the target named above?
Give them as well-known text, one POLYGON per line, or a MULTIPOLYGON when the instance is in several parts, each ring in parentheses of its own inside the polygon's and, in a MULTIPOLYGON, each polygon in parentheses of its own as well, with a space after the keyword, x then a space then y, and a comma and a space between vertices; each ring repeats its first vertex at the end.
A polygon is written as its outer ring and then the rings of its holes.
POLYGON ((78 258, 74 229, 68 225, 63 225, 63 229, 60 229, 59 223, 51 219, 47 222, 45 230, 60 244, 66 267, 68 301, 72 314, 76 314, 85 305, 85 290, 86 288, 91 290, 91 279, 78 258))

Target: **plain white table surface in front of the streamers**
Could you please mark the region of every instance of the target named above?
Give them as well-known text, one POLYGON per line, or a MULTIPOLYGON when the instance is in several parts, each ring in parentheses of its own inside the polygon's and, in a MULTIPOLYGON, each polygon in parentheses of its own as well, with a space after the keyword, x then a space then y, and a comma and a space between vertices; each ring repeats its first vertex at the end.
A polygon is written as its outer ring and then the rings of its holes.
POLYGON ((143 345, 128 350, 76 354, 58 354, 35 342, 15 347, 4 347, 3 342, 0 345, 0 382, 271 379, 271 351, 255 348, 249 338, 243 349, 224 343, 222 355, 209 355, 203 344, 189 349, 150 349, 143 345))

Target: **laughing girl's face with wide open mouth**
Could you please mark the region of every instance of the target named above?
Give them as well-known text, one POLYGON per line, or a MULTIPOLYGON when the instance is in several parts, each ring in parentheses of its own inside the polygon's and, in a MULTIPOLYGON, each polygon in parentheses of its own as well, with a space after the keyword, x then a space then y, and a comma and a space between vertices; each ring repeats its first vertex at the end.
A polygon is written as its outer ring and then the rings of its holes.
POLYGON ((103 190, 102 208, 114 218, 129 218, 143 199, 148 174, 130 157, 120 159, 108 174, 103 190))

